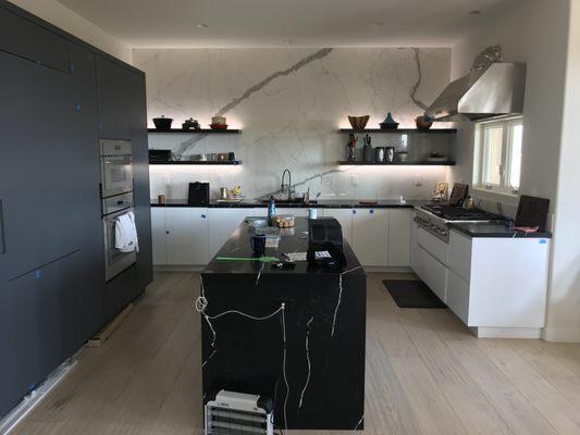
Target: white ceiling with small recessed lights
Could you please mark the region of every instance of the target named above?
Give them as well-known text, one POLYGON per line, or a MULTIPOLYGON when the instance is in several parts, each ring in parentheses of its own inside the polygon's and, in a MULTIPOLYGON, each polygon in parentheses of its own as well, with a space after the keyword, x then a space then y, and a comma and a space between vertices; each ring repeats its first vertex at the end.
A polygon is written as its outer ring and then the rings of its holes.
POLYGON ((510 0, 59 1, 131 47, 182 48, 449 47, 510 0))

